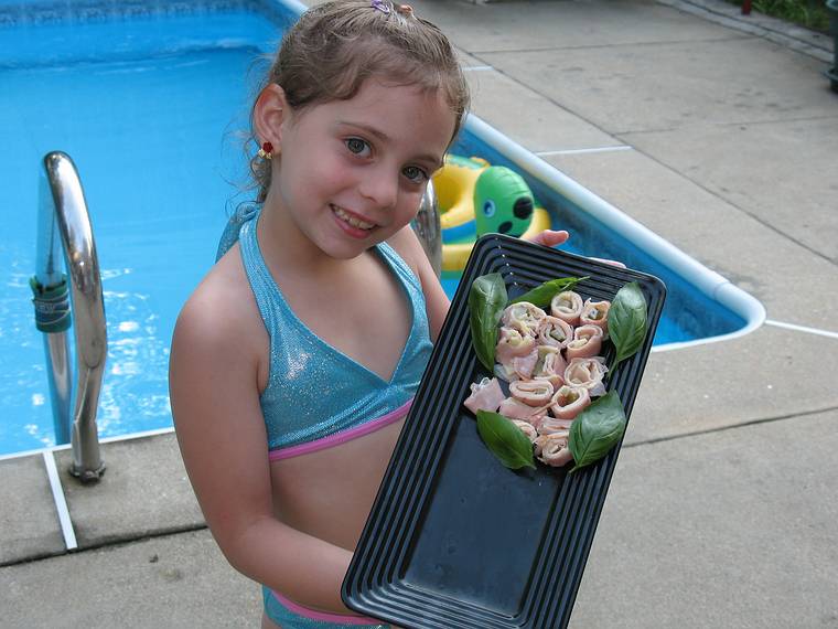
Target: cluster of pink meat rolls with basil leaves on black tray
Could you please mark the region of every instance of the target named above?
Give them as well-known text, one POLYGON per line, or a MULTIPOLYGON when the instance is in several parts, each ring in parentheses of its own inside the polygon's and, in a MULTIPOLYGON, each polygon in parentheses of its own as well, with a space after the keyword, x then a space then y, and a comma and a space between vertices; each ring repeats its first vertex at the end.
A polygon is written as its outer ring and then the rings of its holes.
POLYGON ((604 457, 622 438, 623 406, 615 392, 605 393, 604 380, 643 343, 645 299, 631 282, 613 302, 583 300, 572 290, 581 279, 554 279, 523 296, 534 301, 508 303, 499 274, 481 276, 472 286, 473 345, 496 377, 472 384, 464 404, 477 415, 486 446, 509 468, 531 466, 517 435, 545 465, 576 461, 571 471, 604 457), (611 370, 602 355, 605 340, 615 350, 611 370), (508 396, 498 379, 508 383, 508 396))

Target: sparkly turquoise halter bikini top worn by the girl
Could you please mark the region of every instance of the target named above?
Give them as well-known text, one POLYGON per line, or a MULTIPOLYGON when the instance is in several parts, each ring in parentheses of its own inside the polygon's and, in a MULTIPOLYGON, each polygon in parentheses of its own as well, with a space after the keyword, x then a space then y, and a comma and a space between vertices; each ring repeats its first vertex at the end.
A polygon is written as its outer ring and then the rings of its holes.
MULTIPOLYGON (((387 382, 323 341, 286 303, 259 249, 258 215, 258 210, 238 212, 227 232, 240 225, 241 260, 270 335, 270 373, 260 397, 269 449, 299 449, 303 444, 357 431, 363 424, 395 416, 415 395, 432 349, 419 279, 393 247, 386 243, 376 246, 404 288, 412 314, 407 343, 387 382)), ((232 246, 227 232, 218 257, 232 246)))

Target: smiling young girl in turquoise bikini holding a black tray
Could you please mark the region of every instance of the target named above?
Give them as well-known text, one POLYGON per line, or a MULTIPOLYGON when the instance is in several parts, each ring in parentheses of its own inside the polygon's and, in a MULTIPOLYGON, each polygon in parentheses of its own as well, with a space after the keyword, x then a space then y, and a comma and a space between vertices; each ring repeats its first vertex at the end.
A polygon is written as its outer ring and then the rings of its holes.
POLYGON ((409 223, 466 106, 448 40, 388 0, 303 14, 254 105, 257 204, 181 312, 170 386, 262 627, 380 626, 341 583, 448 311, 409 223))

